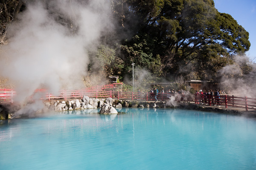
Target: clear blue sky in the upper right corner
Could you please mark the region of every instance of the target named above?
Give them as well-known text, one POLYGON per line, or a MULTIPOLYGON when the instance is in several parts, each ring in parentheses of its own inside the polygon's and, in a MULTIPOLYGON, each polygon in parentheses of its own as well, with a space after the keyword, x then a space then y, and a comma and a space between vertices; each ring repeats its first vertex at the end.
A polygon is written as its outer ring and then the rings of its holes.
POLYGON ((249 32, 251 46, 246 54, 256 62, 256 0, 214 0, 214 3, 219 12, 230 14, 249 32))

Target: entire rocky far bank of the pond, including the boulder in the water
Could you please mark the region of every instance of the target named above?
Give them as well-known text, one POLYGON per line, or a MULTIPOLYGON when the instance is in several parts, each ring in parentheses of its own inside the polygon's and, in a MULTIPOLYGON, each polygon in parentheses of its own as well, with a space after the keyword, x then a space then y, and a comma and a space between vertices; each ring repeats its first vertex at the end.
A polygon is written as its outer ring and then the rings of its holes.
MULTIPOLYGON (((42 104, 42 103, 41 103, 42 104)), ((21 105, 0 105, 0 120, 13 119, 20 117, 37 116, 41 113, 49 111, 73 111, 81 109, 96 109, 101 108, 99 113, 102 114, 117 114, 116 110, 121 110, 122 107, 132 108, 185 108, 199 111, 214 111, 218 113, 233 113, 243 114, 243 111, 234 111, 233 109, 205 107, 202 105, 190 103, 172 103, 167 102, 143 102, 143 101, 126 101, 107 99, 94 99, 88 96, 83 96, 82 99, 67 100, 67 101, 45 101, 41 108, 35 107, 36 103, 27 103, 21 105), (43 108, 43 109, 42 109, 43 108)), ((253 114, 255 116, 255 114, 253 114)))

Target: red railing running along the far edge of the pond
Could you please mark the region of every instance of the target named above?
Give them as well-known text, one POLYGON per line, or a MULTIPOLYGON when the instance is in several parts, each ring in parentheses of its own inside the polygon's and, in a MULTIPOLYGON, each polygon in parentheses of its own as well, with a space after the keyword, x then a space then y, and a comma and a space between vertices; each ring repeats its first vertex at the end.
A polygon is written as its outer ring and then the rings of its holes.
MULTIPOLYGON (((106 86, 105 86, 106 87, 106 86)), ((111 86, 108 86, 111 87, 111 86)), ((40 92, 43 95, 41 99, 81 99, 84 95, 90 98, 108 98, 120 100, 137 100, 137 101, 154 101, 153 93, 144 92, 121 92, 121 91, 104 91, 101 90, 102 86, 96 86, 95 90, 81 89, 81 90, 62 90, 59 91, 58 96, 54 96, 52 93, 48 93, 44 89, 38 89, 35 91, 40 92)), ((0 102, 13 102, 16 92, 12 89, 0 89, 0 102)), ((227 107, 245 108, 256 110, 256 98, 239 97, 239 96, 210 96, 210 95, 184 95, 184 94, 161 94, 157 95, 158 101, 167 101, 169 98, 176 102, 195 102, 204 103, 205 105, 222 105, 227 107)), ((32 98, 32 97, 31 97, 32 98)))

